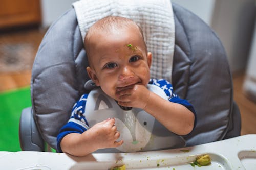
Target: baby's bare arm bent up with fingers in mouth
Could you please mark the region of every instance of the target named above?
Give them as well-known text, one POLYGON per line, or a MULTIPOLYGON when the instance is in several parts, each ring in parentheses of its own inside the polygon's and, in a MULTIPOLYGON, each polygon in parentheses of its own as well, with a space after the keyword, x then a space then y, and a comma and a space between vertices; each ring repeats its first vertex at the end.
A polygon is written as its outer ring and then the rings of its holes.
POLYGON ((186 135, 194 128, 195 115, 185 106, 169 102, 145 86, 136 84, 117 92, 119 104, 144 109, 168 130, 186 135))

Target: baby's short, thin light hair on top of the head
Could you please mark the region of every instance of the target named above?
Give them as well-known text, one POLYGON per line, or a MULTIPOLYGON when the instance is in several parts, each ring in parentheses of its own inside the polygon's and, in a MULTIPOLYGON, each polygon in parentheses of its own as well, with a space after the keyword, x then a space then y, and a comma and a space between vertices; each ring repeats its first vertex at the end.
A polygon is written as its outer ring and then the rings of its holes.
POLYGON ((86 49, 86 51, 89 51, 89 43, 87 43, 89 41, 89 38, 91 36, 91 34, 96 34, 99 31, 104 31, 106 33, 111 33, 113 30, 115 29, 120 29, 120 28, 129 28, 129 27, 137 27, 141 33, 141 36, 143 38, 143 43, 145 45, 145 49, 146 49, 146 53, 147 53, 147 47, 146 47, 146 43, 144 40, 144 35, 143 35, 143 31, 140 28, 139 25, 137 25, 136 22, 134 22, 132 19, 129 18, 125 18, 125 17, 121 17, 121 16, 106 16, 100 20, 98 20, 97 22, 95 22, 88 30, 88 32, 86 33, 86 36, 84 38, 84 48, 86 49))

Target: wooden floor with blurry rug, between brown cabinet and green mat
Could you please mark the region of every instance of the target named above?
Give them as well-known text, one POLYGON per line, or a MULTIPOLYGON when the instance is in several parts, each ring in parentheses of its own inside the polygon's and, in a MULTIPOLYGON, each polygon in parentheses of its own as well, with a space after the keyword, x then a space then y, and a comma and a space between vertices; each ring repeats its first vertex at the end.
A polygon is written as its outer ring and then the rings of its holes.
POLYGON ((0 91, 30 85, 31 68, 46 29, 0 30, 0 91))

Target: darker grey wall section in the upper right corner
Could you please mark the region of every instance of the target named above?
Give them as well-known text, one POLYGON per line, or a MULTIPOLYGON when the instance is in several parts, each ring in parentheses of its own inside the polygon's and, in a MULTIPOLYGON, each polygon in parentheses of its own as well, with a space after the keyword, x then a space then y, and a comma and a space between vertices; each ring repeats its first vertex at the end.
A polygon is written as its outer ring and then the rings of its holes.
POLYGON ((246 69, 253 34, 254 0, 216 1, 211 27, 220 37, 232 72, 246 69))

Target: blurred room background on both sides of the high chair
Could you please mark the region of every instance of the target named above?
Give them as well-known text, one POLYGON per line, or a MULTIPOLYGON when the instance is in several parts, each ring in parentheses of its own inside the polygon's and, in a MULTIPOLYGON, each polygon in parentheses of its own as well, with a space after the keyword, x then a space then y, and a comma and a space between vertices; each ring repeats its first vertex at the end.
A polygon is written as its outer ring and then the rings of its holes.
MULTIPOLYGON (((0 151, 20 151, 19 117, 31 106, 31 68, 49 26, 72 0, 0 0, 0 151)), ((241 117, 256 133, 255 0, 173 0, 198 15, 222 41, 241 117)), ((210 75, 209 75, 210 76, 210 75)))

